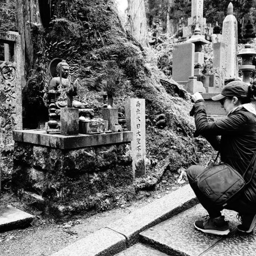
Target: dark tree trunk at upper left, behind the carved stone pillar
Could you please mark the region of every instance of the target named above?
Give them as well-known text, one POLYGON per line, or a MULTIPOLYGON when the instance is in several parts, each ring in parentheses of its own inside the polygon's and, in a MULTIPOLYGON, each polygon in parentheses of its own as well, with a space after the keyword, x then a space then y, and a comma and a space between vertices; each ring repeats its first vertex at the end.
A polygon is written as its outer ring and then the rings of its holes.
POLYGON ((38 24, 38 3, 35 0, 16 0, 18 32, 22 37, 22 54, 25 60, 25 70, 29 70, 33 63, 33 41, 31 30, 38 24))

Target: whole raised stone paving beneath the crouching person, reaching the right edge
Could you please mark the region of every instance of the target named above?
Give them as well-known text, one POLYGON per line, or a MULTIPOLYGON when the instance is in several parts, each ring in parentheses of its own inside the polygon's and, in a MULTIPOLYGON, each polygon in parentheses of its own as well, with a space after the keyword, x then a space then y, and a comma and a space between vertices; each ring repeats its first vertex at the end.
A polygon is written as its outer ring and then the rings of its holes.
POLYGON ((237 232, 239 221, 237 213, 224 210, 229 221, 230 233, 226 237, 204 234, 195 230, 194 222, 206 216, 207 212, 196 205, 181 214, 140 233, 142 242, 167 253, 187 256, 254 256, 256 254, 256 235, 242 235, 237 232))

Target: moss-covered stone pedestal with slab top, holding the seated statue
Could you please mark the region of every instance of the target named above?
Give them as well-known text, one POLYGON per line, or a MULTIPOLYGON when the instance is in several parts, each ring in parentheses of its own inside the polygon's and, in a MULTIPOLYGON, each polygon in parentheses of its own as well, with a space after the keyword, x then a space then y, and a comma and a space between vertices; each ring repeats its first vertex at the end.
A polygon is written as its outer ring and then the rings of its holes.
POLYGON ((12 188, 47 215, 100 210, 104 200, 113 208, 116 195, 134 195, 133 132, 64 136, 24 130, 14 131, 13 139, 12 188))

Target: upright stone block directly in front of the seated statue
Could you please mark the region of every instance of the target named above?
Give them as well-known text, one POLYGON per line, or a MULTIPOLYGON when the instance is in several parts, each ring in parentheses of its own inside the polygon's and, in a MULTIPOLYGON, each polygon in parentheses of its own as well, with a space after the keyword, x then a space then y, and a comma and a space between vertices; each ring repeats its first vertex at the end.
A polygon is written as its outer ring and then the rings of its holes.
POLYGON ((79 131, 79 110, 74 108, 60 109, 60 134, 77 135, 79 131))

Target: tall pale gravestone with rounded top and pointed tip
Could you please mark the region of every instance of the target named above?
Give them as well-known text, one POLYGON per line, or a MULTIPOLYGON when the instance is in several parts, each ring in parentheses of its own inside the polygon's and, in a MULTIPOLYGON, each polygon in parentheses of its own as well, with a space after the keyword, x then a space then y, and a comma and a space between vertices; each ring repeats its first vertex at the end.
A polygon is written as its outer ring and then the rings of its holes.
POLYGON ((222 42, 225 44, 226 78, 238 77, 238 22, 233 15, 233 5, 230 2, 227 16, 222 25, 222 42))

